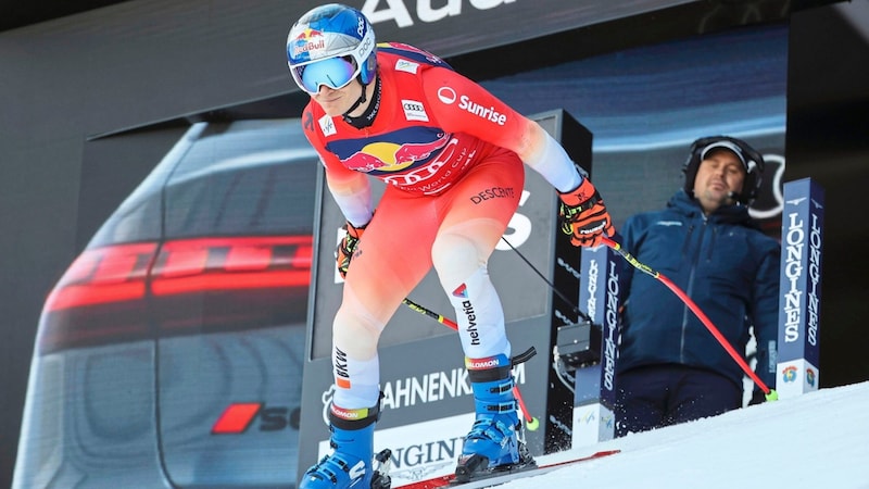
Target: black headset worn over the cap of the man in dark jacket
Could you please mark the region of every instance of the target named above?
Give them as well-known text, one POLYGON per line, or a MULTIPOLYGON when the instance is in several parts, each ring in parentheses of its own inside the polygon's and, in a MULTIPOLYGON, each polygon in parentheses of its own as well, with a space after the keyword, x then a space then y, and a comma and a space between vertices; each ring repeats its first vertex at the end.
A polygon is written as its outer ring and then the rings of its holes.
POLYGON ((760 183, 764 175, 764 156, 752 148, 747 142, 742 139, 732 138, 729 136, 710 136, 700 138, 691 145, 691 151, 688 160, 682 165, 682 173, 684 174, 684 190, 691 197, 694 197, 694 178, 697 176, 697 168, 703 161, 703 155, 706 151, 713 148, 725 148, 735 152, 743 161, 743 168, 745 170, 745 180, 742 184, 742 192, 733 193, 736 201, 743 205, 751 205, 760 190, 760 183))

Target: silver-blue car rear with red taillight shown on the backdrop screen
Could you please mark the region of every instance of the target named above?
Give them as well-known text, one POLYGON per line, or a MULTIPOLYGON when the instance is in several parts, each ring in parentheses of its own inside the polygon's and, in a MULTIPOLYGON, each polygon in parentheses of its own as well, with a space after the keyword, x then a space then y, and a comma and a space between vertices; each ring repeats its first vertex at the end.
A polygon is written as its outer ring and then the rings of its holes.
POLYGON ((196 123, 50 292, 14 487, 294 487, 317 156, 196 123))

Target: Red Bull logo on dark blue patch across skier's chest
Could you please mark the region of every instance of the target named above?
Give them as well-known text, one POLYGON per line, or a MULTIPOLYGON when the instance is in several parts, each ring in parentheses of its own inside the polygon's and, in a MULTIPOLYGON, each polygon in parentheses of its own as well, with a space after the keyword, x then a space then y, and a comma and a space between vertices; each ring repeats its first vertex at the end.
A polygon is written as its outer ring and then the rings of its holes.
POLYGON ((408 127, 377 140, 341 140, 327 145, 350 170, 373 175, 402 172, 425 165, 450 141, 451 136, 428 127, 408 127), (398 142, 415 141, 415 142, 398 142))

